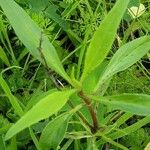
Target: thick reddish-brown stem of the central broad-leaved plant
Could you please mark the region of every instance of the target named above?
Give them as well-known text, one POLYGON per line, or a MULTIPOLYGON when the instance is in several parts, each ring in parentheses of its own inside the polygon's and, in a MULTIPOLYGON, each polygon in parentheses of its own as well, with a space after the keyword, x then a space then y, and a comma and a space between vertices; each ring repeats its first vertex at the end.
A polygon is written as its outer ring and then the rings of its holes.
POLYGON ((99 129, 99 125, 97 121, 96 112, 92 106, 91 100, 86 95, 84 95, 83 91, 79 92, 79 96, 83 99, 91 114, 92 121, 93 121, 93 127, 91 128, 91 132, 96 133, 96 131, 99 129))

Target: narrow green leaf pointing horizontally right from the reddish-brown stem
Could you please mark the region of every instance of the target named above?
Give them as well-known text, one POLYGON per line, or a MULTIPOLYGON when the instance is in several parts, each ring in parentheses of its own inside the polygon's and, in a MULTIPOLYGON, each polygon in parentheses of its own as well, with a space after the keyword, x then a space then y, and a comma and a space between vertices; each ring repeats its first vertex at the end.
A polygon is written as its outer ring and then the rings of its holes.
POLYGON ((93 100, 98 100, 100 103, 108 105, 114 109, 120 109, 125 112, 130 112, 136 115, 150 115, 150 95, 146 94, 123 94, 116 96, 95 97, 93 100))

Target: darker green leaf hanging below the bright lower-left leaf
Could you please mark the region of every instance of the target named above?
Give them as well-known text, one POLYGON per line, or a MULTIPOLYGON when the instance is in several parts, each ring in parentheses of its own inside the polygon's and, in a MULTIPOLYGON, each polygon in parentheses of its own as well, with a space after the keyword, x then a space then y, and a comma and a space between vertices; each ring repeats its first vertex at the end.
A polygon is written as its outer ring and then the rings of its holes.
POLYGON ((57 149, 67 130, 69 118, 70 114, 61 115, 47 124, 39 141, 42 149, 57 149))

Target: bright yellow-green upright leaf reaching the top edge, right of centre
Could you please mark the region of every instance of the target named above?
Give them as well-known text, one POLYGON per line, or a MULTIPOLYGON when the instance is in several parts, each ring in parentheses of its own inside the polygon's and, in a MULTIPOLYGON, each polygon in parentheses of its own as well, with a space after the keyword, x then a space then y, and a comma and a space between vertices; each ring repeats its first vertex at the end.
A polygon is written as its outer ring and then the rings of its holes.
POLYGON ((83 81, 88 73, 100 65, 107 56, 128 3, 129 0, 118 0, 101 22, 87 49, 81 81, 83 81))

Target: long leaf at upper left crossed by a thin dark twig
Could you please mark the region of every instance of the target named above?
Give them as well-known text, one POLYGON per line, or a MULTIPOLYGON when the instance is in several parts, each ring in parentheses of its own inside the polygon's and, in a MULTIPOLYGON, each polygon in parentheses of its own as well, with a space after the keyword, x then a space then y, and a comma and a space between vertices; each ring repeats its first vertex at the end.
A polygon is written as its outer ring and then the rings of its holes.
POLYGON ((70 78, 64 71, 54 46, 44 34, 41 34, 42 29, 38 27, 38 25, 15 1, 0 0, 0 6, 4 10, 5 15, 9 19, 18 38, 27 47, 31 54, 44 63, 39 50, 41 40, 41 51, 48 67, 51 67, 70 83, 70 78))

